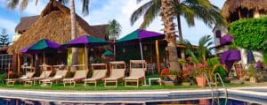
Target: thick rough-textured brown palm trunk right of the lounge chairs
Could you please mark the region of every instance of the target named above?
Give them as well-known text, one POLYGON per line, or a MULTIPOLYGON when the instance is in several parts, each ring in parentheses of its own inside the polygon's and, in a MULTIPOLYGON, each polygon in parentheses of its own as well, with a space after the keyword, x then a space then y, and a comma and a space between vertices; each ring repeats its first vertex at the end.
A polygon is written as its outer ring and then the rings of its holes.
POLYGON ((168 41, 170 70, 181 71, 177 62, 176 36, 174 28, 174 11, 171 0, 161 0, 161 18, 164 23, 164 34, 168 41))

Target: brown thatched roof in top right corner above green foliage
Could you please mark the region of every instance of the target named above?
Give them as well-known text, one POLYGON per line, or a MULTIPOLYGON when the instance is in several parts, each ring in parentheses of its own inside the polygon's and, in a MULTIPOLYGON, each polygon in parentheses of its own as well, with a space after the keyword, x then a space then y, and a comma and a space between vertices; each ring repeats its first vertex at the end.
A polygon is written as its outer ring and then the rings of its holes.
POLYGON ((228 19, 231 13, 238 11, 239 8, 247 10, 267 11, 267 0, 227 0, 223 4, 222 15, 228 19))

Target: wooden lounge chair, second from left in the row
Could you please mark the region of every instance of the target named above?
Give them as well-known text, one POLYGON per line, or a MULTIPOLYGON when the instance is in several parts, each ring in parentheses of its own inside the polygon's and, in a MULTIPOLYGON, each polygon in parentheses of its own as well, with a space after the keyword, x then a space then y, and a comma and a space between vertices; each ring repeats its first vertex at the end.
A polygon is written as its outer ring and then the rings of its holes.
POLYGON ((34 77, 32 79, 24 79, 24 85, 25 86, 32 86, 36 84, 36 81, 39 82, 41 79, 46 79, 51 75, 52 71, 43 71, 39 77, 34 77))

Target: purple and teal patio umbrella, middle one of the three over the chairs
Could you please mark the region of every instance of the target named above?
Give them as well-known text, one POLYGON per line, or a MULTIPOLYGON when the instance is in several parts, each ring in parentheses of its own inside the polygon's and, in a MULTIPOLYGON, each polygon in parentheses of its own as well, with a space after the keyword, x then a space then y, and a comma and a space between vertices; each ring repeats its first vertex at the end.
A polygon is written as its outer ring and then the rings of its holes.
MULTIPOLYGON (((87 48, 107 45, 109 42, 95 38, 89 34, 85 34, 77 39, 66 42, 62 45, 64 48, 85 48, 85 66, 87 65, 87 48)), ((87 66, 86 66, 87 68, 87 66)))

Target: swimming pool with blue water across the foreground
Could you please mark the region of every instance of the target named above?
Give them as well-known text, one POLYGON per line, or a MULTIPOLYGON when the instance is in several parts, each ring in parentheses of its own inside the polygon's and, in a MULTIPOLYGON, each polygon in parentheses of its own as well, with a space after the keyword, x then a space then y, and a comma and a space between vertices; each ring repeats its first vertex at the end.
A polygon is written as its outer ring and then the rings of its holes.
MULTIPOLYGON (((228 89, 228 102, 267 104, 267 94, 257 90, 262 88, 231 88, 228 89), (247 90, 248 89, 248 90, 247 90), (241 102, 240 102, 241 101, 241 102)), ((223 89, 214 90, 214 98, 220 104, 225 98, 223 89)), ((266 91, 267 92, 267 91, 266 91)), ((147 90, 147 91, 99 91, 99 92, 71 92, 71 91, 34 91, 34 90, 12 90, 0 89, 1 102, 27 102, 30 104, 79 104, 79 103, 110 103, 110 104, 165 104, 191 103, 199 104, 203 101, 211 104, 210 89, 188 89, 188 90, 147 90), (200 100, 199 100, 200 99, 200 100), (42 103, 43 102, 43 103, 42 103)), ((3 104, 4 104, 3 103, 3 104)), ((215 102, 218 103, 218 102, 215 102)), ((235 105, 235 104, 234 104, 235 105)), ((238 104, 239 105, 239 104, 238 104)), ((242 105, 242 104, 241 104, 242 105)))

